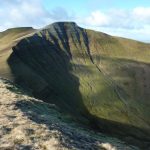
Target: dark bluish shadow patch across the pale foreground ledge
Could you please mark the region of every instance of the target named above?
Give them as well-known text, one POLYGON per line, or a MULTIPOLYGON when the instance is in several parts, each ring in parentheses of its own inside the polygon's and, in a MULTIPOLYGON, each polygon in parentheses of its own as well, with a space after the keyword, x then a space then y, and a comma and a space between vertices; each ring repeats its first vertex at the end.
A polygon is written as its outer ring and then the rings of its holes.
POLYGON ((34 100, 20 100, 16 103, 16 107, 35 123, 42 125, 45 124, 51 132, 51 136, 52 131, 59 131, 61 135, 54 134, 53 136, 56 136, 61 145, 67 147, 68 149, 98 149, 96 143, 97 141, 94 137, 85 136, 85 133, 80 132, 81 126, 74 121, 70 122, 69 118, 66 119, 64 114, 61 114, 59 109, 54 105, 48 105, 34 100), (68 123, 68 121, 70 123, 68 123), (71 128, 72 125, 76 128, 79 127, 80 131, 77 133, 77 130, 71 128))

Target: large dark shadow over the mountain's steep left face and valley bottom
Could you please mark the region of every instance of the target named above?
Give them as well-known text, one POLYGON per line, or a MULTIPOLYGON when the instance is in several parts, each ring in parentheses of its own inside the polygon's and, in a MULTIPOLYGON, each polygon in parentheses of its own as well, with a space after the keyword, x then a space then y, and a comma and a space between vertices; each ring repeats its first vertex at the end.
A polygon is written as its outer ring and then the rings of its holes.
MULTIPOLYGON (((55 37, 51 39, 56 41, 55 37)), ((149 138, 147 140, 146 134, 138 128, 96 118, 89 114, 79 91, 79 79, 71 73, 71 58, 68 56, 70 56, 68 51, 64 51, 58 42, 53 43, 46 37, 35 34, 28 39, 21 40, 13 48, 8 64, 15 82, 30 90, 36 98, 56 104, 61 110, 71 113, 79 121, 88 125, 91 123, 91 126, 98 131, 113 136, 119 135, 119 137, 129 136, 127 141, 134 144, 138 144, 139 141, 144 143, 144 140, 148 143, 149 138), (138 133, 136 135, 141 138, 135 137, 134 133, 138 133), (131 141, 130 136, 139 140, 135 143, 136 140, 131 141)), ((20 109, 26 111, 22 107, 20 109)), ((32 119, 36 122, 34 117, 32 119)))

